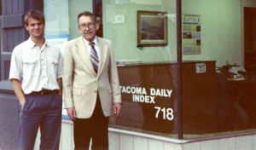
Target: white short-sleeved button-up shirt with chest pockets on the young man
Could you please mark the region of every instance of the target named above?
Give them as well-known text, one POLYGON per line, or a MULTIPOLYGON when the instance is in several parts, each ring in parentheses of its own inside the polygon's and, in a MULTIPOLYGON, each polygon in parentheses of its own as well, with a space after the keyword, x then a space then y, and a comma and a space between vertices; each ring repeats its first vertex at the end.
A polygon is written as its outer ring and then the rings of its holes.
POLYGON ((60 89, 57 82, 63 75, 63 57, 59 48, 45 42, 42 48, 31 38, 17 45, 10 64, 9 80, 20 80, 24 94, 42 89, 60 89))

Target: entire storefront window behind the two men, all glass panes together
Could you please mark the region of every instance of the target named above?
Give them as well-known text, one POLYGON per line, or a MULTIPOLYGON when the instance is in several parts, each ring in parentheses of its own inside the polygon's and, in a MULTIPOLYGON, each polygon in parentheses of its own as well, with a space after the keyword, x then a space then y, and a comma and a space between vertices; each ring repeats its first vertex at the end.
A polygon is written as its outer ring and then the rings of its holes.
MULTIPOLYGON (((255 11, 245 9, 255 6, 182 1, 185 138, 255 129, 256 76, 246 56, 256 51, 255 40, 245 40, 256 39, 246 23, 255 24, 255 11)), ((177 137, 176 0, 44 0, 46 38, 61 41, 62 49, 79 38, 77 15, 85 10, 102 11, 101 35, 112 41, 118 64, 123 109, 109 125, 177 137)))

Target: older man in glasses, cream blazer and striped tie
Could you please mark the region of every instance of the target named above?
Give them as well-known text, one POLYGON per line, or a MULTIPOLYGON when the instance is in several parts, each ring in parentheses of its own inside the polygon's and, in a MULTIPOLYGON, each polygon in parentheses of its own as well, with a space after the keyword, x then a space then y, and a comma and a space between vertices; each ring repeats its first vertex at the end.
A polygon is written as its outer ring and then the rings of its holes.
POLYGON ((108 149, 108 117, 119 115, 121 95, 112 43, 96 37, 99 24, 90 12, 79 14, 81 37, 67 43, 63 87, 67 115, 74 124, 75 149, 108 149))

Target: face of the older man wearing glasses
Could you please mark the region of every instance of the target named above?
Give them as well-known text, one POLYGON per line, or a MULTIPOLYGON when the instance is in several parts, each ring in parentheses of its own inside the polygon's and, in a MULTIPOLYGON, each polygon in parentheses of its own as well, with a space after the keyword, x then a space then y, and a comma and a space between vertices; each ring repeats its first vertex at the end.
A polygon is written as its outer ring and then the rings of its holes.
POLYGON ((79 32, 89 42, 96 37, 96 31, 99 29, 99 24, 95 23, 90 16, 80 16, 79 18, 79 32))

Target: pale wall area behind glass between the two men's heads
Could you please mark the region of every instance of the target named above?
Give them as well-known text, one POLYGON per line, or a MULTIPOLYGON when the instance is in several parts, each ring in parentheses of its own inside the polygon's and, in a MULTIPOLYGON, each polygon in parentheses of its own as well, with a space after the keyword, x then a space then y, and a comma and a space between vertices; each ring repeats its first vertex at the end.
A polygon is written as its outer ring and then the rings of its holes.
POLYGON ((46 20, 45 35, 69 34, 70 39, 78 38, 78 14, 92 12, 91 0, 44 0, 46 20))

